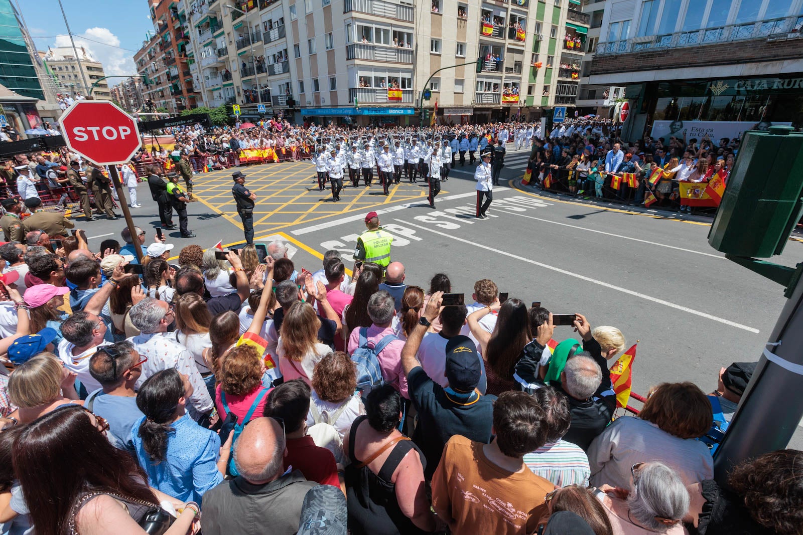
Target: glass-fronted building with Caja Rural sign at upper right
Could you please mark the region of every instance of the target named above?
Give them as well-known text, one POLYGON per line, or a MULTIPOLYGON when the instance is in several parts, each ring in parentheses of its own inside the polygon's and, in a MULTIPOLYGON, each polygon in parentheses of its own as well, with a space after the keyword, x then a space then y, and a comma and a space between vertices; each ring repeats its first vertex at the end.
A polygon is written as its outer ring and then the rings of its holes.
POLYGON ((606 0, 589 83, 626 87, 631 137, 800 127, 801 30, 803 0, 606 0))

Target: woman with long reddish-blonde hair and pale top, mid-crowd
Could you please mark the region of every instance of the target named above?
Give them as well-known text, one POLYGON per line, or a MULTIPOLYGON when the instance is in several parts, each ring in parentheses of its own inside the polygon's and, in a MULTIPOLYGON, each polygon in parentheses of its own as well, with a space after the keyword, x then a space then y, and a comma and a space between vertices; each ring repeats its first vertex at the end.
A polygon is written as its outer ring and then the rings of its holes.
POLYGON ((284 314, 276 355, 285 381, 304 379, 312 385, 315 365, 332 351, 318 340, 320 319, 308 302, 296 302, 284 314))

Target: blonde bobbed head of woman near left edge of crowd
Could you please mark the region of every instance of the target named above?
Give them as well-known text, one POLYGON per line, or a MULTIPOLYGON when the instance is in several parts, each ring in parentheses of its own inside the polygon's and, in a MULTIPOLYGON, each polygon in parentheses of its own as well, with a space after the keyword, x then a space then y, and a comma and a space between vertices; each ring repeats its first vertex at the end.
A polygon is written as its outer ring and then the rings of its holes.
POLYGON ((19 422, 30 424, 67 403, 83 404, 75 391, 75 376, 52 353, 39 353, 16 367, 8 378, 8 397, 19 407, 19 422))

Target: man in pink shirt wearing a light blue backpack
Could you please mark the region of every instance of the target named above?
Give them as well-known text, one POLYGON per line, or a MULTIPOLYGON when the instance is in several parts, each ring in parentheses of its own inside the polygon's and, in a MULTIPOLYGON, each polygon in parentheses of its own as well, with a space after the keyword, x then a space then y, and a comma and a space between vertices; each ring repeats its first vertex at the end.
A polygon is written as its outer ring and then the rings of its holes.
MULTIPOLYGON (((395 336, 391 323, 393 316, 396 315, 396 308, 393 296, 387 290, 379 290, 371 296, 368 301, 368 315, 373 322, 373 325, 369 326, 365 333, 369 347, 376 347, 381 339, 389 334, 395 336)), ((357 327, 349 336, 349 355, 357 351, 357 347, 359 347, 361 328, 365 327, 357 327)), ((382 368, 382 377, 385 382, 392 384, 403 398, 410 399, 410 395, 407 393, 407 377, 402 370, 403 347, 402 340, 393 340, 380 351, 377 359, 382 368)))

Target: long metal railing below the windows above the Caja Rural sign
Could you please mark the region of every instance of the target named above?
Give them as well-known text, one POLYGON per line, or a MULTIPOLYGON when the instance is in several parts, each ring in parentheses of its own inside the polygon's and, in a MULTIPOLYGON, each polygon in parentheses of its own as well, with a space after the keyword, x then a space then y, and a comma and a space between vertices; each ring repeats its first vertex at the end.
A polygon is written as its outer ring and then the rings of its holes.
POLYGON ((699 47, 750 39, 786 39, 801 37, 803 17, 770 18, 748 24, 731 24, 693 31, 676 31, 674 34, 635 37, 597 45, 598 55, 622 54, 667 48, 699 47))

